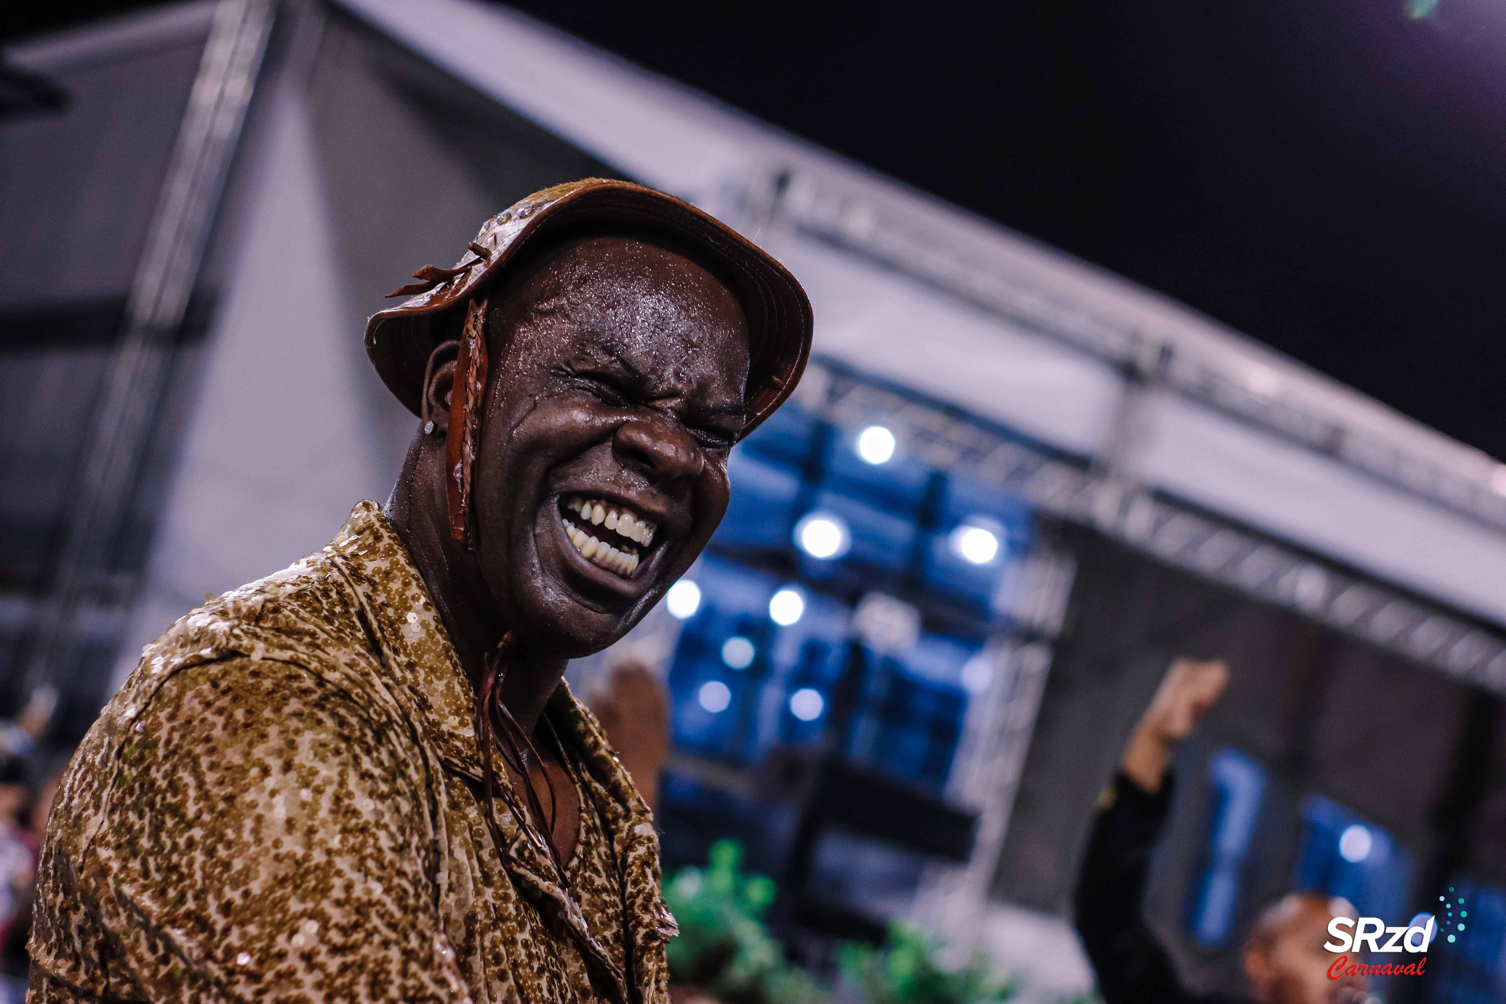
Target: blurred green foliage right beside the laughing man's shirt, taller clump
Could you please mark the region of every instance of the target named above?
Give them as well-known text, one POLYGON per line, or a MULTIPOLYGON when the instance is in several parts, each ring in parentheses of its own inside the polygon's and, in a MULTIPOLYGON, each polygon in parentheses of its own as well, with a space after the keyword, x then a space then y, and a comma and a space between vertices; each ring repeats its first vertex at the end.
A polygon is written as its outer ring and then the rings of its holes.
POLYGON ((664 905, 679 924, 667 945, 670 983, 721 1004, 824 1004, 810 974, 791 966, 764 926, 774 882, 742 872, 742 847, 720 840, 705 869, 664 882, 664 905))

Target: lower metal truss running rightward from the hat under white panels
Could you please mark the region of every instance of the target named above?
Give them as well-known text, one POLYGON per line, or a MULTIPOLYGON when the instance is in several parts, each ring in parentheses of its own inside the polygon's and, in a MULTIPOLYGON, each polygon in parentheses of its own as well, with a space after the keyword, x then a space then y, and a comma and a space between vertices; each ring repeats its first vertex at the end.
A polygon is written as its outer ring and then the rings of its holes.
POLYGON ((995 485, 1042 513, 1093 527, 1167 564, 1506 695, 1506 635, 1500 631, 1157 498, 1108 470, 1051 456, 941 402, 834 363, 822 363, 815 376, 825 388, 824 412, 839 426, 881 418, 931 467, 995 485))

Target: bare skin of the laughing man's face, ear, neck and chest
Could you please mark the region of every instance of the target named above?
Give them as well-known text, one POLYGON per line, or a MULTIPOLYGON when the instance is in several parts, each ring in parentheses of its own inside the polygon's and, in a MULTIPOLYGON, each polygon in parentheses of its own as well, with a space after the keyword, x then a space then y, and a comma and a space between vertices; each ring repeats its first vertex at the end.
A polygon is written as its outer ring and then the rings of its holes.
MULTIPOLYGON (((501 700, 545 759, 530 762, 529 783, 568 861, 580 805, 539 718, 566 661, 626 634, 726 513, 727 455, 745 423, 747 321, 715 275, 652 238, 581 236, 489 291, 486 343, 476 549, 450 537, 444 492, 453 342, 435 349, 425 388, 435 434, 414 438, 389 510, 473 685, 512 631, 518 658, 501 700), (569 497, 657 525, 631 575, 571 543, 569 497)), ((509 778, 523 790, 511 766, 509 778)))

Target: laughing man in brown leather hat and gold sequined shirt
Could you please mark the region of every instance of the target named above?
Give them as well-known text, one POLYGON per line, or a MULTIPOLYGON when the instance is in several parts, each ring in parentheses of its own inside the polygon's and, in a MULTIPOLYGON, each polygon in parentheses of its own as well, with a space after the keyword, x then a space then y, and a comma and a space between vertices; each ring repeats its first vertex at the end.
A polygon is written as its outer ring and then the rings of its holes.
POLYGON ((387 509, 173 625, 74 759, 30 999, 667 1001, 652 814, 562 674, 696 560, 810 306, 626 182, 468 248, 367 325, 387 509))

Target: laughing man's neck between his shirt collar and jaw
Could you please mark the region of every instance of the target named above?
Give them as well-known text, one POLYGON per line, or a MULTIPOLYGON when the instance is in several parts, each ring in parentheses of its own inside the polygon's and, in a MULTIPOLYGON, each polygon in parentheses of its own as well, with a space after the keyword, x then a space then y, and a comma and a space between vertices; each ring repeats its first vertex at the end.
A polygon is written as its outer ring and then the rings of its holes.
MULTIPOLYGON (((479 689, 486 658, 501 643, 508 626, 497 614, 497 601, 476 557, 465 543, 450 537, 443 456, 443 440, 419 437, 414 441, 387 503, 387 515, 434 598, 471 688, 479 689)), ((501 682, 501 701, 526 733, 532 735, 538 726, 565 676, 565 664, 529 646, 517 649, 501 682)))

